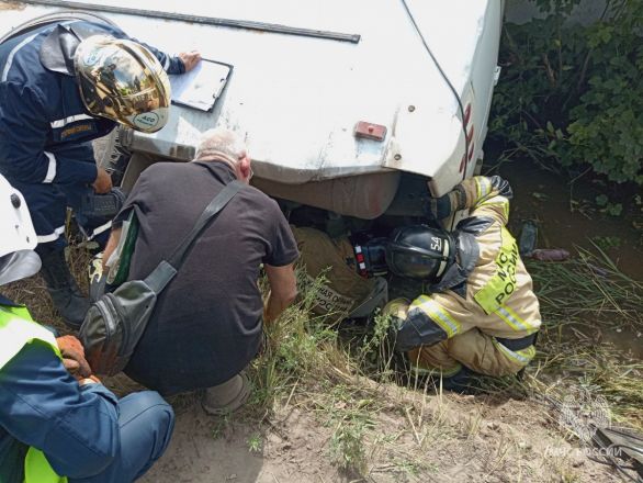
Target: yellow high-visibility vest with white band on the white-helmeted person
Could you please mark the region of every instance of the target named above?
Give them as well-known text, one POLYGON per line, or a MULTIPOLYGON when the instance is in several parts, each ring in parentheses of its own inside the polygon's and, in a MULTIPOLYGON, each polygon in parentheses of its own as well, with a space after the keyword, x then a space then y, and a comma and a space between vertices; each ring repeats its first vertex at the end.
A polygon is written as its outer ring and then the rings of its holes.
MULTIPOLYGON (((45 344, 61 357, 54 334, 33 322, 26 307, 0 305, 0 371, 34 341, 45 344)), ((24 458, 24 483, 67 483, 67 478, 54 471, 40 449, 30 447, 24 458)))

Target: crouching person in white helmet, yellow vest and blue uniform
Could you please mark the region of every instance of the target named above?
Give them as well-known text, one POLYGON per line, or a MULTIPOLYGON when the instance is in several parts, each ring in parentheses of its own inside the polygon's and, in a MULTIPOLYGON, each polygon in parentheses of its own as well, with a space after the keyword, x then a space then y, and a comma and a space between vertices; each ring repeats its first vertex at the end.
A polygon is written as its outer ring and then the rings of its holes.
MULTIPOLYGON (((0 285, 41 267, 22 194, 0 176, 0 285)), ((174 415, 157 393, 119 400, 82 346, 0 295, 0 482, 127 483, 166 450, 174 415)))

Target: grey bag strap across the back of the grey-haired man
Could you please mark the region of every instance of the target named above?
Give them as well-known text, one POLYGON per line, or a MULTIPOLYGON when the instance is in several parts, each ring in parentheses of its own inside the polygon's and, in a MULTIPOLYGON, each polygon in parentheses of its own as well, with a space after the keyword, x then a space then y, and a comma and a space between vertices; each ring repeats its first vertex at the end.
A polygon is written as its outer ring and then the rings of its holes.
POLYGON ((174 278, 188 258, 194 242, 201 233, 207 227, 210 222, 221 212, 226 204, 244 188, 244 183, 235 180, 225 186, 216 196, 210 202, 190 233, 183 238, 181 244, 174 249, 169 260, 161 260, 154 271, 145 279, 145 282, 158 294, 174 278))

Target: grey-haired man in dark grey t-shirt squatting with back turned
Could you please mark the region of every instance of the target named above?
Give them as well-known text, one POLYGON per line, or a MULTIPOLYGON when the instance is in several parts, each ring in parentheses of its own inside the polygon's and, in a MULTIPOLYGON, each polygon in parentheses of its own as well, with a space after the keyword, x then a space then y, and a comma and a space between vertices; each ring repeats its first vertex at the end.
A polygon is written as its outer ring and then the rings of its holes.
MULTIPOLYGON (((167 259, 203 209, 228 182, 252 176, 245 144, 232 132, 204 134, 192 162, 159 162, 140 175, 115 226, 136 210, 139 231, 129 280, 167 259)), ((103 260, 120 238, 114 229, 103 260)), ((161 292, 125 372, 162 394, 208 387, 212 412, 238 407, 248 393, 241 370, 256 356, 262 321, 272 323, 296 295, 297 246, 277 202, 245 187, 194 244, 161 292), (260 266, 270 295, 263 305, 260 266)))

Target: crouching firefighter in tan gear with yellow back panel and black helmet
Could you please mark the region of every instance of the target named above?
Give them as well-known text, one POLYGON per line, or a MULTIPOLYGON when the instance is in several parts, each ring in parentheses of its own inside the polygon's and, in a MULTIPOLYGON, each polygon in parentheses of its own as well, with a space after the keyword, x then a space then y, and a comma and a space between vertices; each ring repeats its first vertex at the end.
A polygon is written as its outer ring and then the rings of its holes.
POLYGON ((438 220, 471 210, 454 232, 414 225, 390 237, 388 268, 429 283, 413 302, 386 305, 395 348, 416 374, 441 377, 444 389, 467 392, 473 373, 516 374, 535 355, 539 303, 506 228, 511 195, 498 176, 464 180, 431 205, 438 220))

